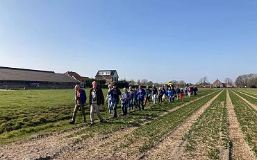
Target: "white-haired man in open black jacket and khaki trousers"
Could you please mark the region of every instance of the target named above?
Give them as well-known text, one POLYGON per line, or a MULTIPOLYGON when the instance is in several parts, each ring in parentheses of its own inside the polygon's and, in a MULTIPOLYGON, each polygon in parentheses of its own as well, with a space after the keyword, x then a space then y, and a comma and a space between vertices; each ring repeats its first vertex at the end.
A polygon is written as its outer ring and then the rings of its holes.
POLYGON ((89 96, 90 104, 90 125, 94 124, 94 112, 97 112, 97 116, 100 119, 100 123, 103 122, 103 118, 100 114, 100 105, 104 105, 104 96, 101 88, 97 87, 97 82, 92 82, 92 88, 90 89, 89 96))

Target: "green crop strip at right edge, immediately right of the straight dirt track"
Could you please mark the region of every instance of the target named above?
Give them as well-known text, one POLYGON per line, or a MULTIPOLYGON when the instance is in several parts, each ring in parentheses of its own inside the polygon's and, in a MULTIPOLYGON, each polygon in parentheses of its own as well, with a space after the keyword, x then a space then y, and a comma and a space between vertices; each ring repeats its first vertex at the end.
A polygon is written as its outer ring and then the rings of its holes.
POLYGON ((257 156, 257 111, 247 103, 244 103, 244 101, 232 91, 229 91, 229 95, 240 127, 245 135, 245 141, 247 141, 251 150, 253 150, 257 156))

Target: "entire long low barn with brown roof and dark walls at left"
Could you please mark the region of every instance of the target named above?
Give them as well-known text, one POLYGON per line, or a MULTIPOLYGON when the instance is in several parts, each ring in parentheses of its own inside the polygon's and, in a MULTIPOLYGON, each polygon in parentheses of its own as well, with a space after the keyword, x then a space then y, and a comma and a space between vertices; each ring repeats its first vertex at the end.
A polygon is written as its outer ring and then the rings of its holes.
POLYGON ((1 89, 72 89, 79 80, 53 71, 0 66, 1 89))

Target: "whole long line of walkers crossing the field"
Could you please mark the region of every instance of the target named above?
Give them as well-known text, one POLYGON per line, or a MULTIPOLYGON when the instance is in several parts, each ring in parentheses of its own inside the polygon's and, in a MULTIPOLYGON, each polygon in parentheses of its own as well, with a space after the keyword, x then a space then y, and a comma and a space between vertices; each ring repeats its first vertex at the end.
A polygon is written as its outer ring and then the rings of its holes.
MULTIPOLYGON (((113 85, 108 85, 108 93, 106 96, 106 102, 108 102, 108 112, 112 114, 113 118, 117 118, 117 106, 120 100, 120 107, 122 109, 122 116, 126 116, 128 111, 133 109, 139 109, 140 111, 144 110, 144 106, 149 106, 150 101, 152 100, 153 105, 156 105, 156 100, 158 103, 163 101, 168 101, 169 103, 174 103, 175 100, 183 100, 184 96, 188 95, 197 95, 197 87, 185 87, 179 89, 179 87, 174 88, 173 86, 165 85, 157 89, 155 85, 149 89, 147 86, 146 89, 143 89, 141 85, 135 87, 129 87, 129 89, 124 88, 121 92, 117 88, 117 84, 114 82, 113 85), (120 96, 120 98, 119 98, 120 96)), ((85 119, 85 104, 87 96, 85 90, 81 89, 78 85, 75 86, 75 100, 76 105, 72 115, 72 121, 69 123, 74 124, 76 120, 76 114, 78 109, 81 109, 83 120, 86 123, 85 119)), ((90 105, 90 125, 94 124, 94 112, 97 112, 97 116, 100 119, 100 123, 103 122, 103 118, 100 114, 100 106, 104 105, 104 96, 103 91, 97 87, 97 82, 92 82, 92 88, 90 89, 89 105, 90 105)))

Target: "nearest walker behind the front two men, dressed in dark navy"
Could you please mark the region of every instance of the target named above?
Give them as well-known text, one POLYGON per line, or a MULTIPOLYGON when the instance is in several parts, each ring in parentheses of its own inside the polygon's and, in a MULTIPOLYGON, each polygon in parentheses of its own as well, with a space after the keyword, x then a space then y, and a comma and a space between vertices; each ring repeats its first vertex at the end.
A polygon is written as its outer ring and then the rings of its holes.
POLYGON ((121 91, 117 88, 116 82, 113 84, 113 89, 108 91, 108 95, 112 98, 113 103, 113 118, 117 118, 117 105, 119 103, 119 96, 122 95, 121 91))

